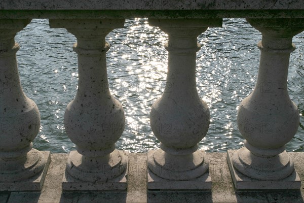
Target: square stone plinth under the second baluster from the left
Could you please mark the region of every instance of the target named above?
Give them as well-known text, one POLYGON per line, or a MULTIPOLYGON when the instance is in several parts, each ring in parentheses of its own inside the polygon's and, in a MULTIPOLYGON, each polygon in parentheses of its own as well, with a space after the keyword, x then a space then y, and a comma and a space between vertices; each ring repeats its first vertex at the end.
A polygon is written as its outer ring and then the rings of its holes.
POLYGON ((129 168, 129 153, 124 151, 128 159, 128 165, 126 171, 120 176, 108 180, 107 182, 86 182, 71 177, 67 171, 65 171, 62 179, 63 190, 126 190, 127 189, 127 177, 129 168))

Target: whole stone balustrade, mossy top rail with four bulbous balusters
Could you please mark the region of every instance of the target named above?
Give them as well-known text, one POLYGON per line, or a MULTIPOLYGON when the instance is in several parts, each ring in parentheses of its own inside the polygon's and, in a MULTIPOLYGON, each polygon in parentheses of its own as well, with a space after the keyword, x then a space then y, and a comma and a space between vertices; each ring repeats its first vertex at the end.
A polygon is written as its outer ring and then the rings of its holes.
POLYGON ((150 125, 161 147, 147 153, 148 189, 211 189, 208 157, 198 150, 210 113, 196 90, 196 52, 197 37, 208 27, 220 27, 222 18, 246 18, 262 33, 257 85, 238 110, 245 147, 227 152, 235 187, 300 188, 285 144, 299 125, 297 106, 287 92, 287 74, 289 55, 295 49, 292 38, 304 30, 302 1, 4 0, 0 8, 1 190, 40 190, 50 162, 49 152, 32 148, 39 110, 23 91, 15 91, 22 88, 14 37, 32 18, 48 18, 51 28, 66 28, 77 38, 73 50, 78 54, 78 92, 64 115, 66 132, 77 150, 69 154, 63 189, 126 189, 128 152, 115 149, 124 130, 124 110, 109 89, 100 86, 107 83, 105 37, 132 17, 147 17, 149 25, 169 36, 165 48, 171 91, 165 91, 150 112, 150 125), (269 82, 272 91, 260 91, 259 84, 269 82), (246 123, 262 127, 270 120, 276 131, 246 129, 246 123), (166 123, 173 123, 170 130, 166 123), (23 128, 15 129, 18 126, 23 128))

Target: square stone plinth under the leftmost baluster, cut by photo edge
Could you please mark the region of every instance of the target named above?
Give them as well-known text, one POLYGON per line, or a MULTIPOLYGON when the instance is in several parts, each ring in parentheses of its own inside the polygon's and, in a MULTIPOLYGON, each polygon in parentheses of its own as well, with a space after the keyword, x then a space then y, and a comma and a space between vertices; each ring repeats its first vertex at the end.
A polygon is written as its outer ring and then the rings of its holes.
POLYGON ((46 174, 48 172, 49 164, 51 161, 51 155, 49 151, 41 151, 46 164, 43 170, 35 176, 15 182, 1 182, 0 191, 39 191, 42 188, 46 174))

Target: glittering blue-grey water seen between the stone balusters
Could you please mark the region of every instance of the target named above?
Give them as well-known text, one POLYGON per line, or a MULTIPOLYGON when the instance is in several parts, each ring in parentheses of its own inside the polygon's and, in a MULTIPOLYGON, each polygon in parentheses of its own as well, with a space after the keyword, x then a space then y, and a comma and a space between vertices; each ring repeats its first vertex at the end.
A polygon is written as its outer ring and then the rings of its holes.
MULTIPOLYGON (((293 38, 297 49, 291 54, 288 75, 290 98, 298 106, 300 126, 287 144, 287 151, 304 151, 304 32, 293 38)), ((237 108, 252 91, 260 52, 260 33, 244 19, 224 19, 222 28, 209 28, 199 36, 202 49, 197 53, 197 90, 209 105, 211 124, 200 148, 224 152, 243 147, 237 128, 237 108)), ((118 149, 146 152, 159 146, 149 126, 149 111, 162 95, 167 72, 167 35, 151 27, 147 19, 126 20, 125 28, 107 36, 108 81, 111 93, 122 104, 126 127, 118 149)), ((18 32, 16 42, 23 90, 41 113, 41 128, 34 147, 53 153, 74 150, 63 124, 66 105, 77 90, 76 42, 65 29, 50 29, 47 19, 33 19, 18 32)), ((261 141, 262 142, 262 141, 261 141)))

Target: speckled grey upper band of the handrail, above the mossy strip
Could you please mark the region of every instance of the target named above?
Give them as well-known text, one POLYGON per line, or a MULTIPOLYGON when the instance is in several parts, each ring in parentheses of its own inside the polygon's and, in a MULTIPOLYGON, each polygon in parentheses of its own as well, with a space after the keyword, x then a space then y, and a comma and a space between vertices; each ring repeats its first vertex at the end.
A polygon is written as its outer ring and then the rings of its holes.
POLYGON ((4 0, 5 10, 297 10, 301 1, 293 0, 4 0))

